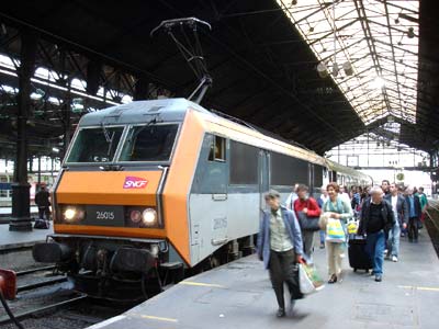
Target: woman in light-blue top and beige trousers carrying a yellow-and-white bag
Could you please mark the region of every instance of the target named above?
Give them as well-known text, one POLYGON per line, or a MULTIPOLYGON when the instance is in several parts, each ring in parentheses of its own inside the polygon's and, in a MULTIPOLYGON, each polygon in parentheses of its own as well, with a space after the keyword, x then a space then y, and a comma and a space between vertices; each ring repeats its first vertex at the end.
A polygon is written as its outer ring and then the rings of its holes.
MULTIPOLYGON (((342 226, 349 218, 352 218, 353 212, 350 202, 338 195, 340 188, 336 182, 331 182, 326 186, 329 198, 323 205, 323 213, 329 218, 339 219, 342 226)), ((341 260, 345 253, 345 243, 326 241, 326 253, 328 258, 329 280, 328 283, 336 283, 341 280, 341 260)))

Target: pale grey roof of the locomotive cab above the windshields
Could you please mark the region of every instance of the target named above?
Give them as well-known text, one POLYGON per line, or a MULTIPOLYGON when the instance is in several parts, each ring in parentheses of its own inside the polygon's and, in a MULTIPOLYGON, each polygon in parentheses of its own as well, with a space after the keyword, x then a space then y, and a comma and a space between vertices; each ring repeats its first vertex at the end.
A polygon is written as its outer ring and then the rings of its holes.
POLYGON ((82 116, 79 126, 143 123, 157 116, 159 116, 159 121, 164 122, 180 122, 183 121, 189 107, 199 112, 211 113, 185 99, 136 101, 88 113, 82 116))

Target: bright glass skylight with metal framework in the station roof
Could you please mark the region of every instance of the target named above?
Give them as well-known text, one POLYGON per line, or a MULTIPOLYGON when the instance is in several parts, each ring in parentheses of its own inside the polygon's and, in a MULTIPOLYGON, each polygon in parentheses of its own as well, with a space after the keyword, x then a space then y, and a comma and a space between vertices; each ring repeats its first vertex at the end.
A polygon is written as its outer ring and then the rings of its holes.
POLYGON ((416 122, 419 0, 277 0, 364 124, 416 122))

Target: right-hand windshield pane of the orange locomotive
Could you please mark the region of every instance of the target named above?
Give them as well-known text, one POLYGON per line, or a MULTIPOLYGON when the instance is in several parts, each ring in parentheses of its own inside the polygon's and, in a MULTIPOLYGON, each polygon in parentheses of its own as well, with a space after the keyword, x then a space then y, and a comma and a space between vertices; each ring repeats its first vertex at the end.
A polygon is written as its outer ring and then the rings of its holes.
POLYGON ((168 161, 177 131, 178 124, 131 127, 119 161, 168 161))

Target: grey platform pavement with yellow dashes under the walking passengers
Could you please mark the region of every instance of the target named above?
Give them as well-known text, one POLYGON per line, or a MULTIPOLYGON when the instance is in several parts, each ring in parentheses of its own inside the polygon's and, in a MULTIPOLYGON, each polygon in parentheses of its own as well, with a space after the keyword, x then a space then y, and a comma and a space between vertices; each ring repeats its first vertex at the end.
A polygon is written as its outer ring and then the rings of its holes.
MULTIPOLYGON (((275 318, 277 303, 262 263, 250 256, 187 279, 127 313, 91 328, 439 328, 439 260, 428 234, 402 239, 401 261, 385 261, 383 282, 344 261, 344 281, 297 300, 275 318)), ((326 277, 325 250, 315 261, 326 277)), ((285 298, 286 299, 286 298, 285 298)))

